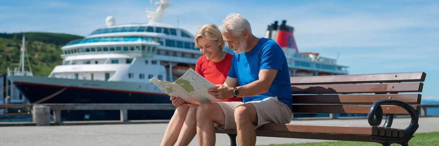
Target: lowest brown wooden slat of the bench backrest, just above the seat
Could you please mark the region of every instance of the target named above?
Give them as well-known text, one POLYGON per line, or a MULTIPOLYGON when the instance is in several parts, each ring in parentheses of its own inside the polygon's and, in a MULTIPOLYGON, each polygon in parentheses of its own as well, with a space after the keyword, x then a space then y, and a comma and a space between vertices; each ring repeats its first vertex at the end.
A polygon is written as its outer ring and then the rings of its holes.
MULTIPOLYGON (((384 114, 408 114, 398 106, 381 106, 384 114), (389 108, 389 110, 388 110, 389 108)), ((412 106, 417 109, 418 106, 412 106)), ((333 114, 367 114, 371 106, 352 105, 293 105, 293 113, 333 113, 333 114)))

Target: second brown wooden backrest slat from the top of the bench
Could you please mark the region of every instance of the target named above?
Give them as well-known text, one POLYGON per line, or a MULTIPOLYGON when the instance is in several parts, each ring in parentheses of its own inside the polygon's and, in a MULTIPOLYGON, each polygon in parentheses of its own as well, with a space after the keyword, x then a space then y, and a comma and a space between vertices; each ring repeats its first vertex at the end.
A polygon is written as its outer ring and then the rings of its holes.
POLYGON ((421 82, 352 84, 352 85, 293 85, 292 94, 335 94, 335 93, 406 93, 422 92, 421 82))

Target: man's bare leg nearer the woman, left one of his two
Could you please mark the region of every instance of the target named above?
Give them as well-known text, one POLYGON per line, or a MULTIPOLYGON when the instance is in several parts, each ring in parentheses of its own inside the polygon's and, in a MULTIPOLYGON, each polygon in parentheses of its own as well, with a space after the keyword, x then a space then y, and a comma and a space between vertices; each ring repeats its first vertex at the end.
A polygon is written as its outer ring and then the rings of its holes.
POLYGON ((197 135, 199 146, 215 146, 216 135, 213 123, 226 124, 224 112, 217 103, 203 103, 197 109, 197 135))

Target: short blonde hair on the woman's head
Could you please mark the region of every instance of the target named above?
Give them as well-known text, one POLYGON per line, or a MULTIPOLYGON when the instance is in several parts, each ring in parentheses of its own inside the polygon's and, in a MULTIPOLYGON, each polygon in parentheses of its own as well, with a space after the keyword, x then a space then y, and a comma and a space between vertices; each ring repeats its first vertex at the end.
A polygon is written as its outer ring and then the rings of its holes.
POLYGON ((219 45, 219 49, 223 50, 224 48, 223 35, 221 35, 218 26, 216 26, 215 24, 206 24, 198 28, 198 31, 197 33, 195 33, 195 38, 194 38, 195 48, 199 48, 197 39, 200 37, 205 37, 209 40, 214 40, 214 41, 221 39, 221 45, 219 45))

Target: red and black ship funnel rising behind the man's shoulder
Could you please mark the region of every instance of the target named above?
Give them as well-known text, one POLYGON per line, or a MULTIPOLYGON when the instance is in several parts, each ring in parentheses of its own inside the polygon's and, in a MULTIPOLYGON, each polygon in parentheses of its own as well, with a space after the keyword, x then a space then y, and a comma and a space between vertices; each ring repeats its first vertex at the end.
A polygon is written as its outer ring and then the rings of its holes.
POLYGON ((294 27, 286 25, 287 21, 283 20, 281 25, 277 25, 277 21, 268 25, 266 38, 275 40, 284 51, 294 50, 299 53, 299 50, 294 39, 294 27))

